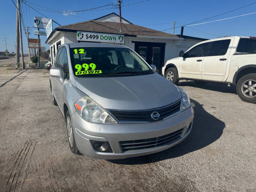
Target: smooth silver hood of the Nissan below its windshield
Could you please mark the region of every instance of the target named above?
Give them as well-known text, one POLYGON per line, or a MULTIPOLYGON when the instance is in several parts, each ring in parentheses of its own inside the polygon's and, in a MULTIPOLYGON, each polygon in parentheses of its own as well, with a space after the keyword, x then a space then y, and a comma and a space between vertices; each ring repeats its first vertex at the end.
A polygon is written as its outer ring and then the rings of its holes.
POLYGON ((159 74, 77 78, 76 87, 102 107, 143 110, 163 107, 181 98, 177 87, 159 74))

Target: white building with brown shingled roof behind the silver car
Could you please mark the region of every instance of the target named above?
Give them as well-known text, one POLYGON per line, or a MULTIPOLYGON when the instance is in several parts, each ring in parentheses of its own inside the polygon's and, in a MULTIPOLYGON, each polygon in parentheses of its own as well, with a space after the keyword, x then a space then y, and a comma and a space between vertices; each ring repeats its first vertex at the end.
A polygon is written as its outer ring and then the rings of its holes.
MULTIPOLYGON (((77 42, 99 42, 122 44, 136 51, 148 64, 156 65, 157 72, 166 60, 178 57, 181 50, 206 39, 172 35, 162 31, 134 25, 122 18, 120 31, 119 16, 110 13, 89 20, 55 28, 47 38, 51 60, 61 44, 77 42), (184 38, 185 37, 185 38, 184 38)), ((160 70, 161 71, 161 70, 160 70)))

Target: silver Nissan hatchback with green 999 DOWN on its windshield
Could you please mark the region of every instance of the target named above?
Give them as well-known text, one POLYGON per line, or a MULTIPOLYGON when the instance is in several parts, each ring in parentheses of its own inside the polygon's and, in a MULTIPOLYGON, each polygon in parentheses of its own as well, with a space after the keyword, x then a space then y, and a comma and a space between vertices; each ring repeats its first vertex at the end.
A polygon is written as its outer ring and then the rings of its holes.
POLYGON ((71 151, 98 159, 156 153, 184 140, 194 110, 187 93, 130 48, 63 44, 50 70, 52 102, 71 151))

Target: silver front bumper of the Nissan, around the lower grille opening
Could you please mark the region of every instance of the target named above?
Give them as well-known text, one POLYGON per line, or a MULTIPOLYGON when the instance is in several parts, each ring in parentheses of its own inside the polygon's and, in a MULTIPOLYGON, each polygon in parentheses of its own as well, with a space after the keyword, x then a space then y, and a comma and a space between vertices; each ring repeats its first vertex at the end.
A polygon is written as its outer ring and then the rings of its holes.
POLYGON ((192 107, 181 113, 155 123, 96 124, 85 121, 77 112, 71 116, 76 146, 86 156, 96 159, 123 159, 163 151, 184 140, 191 131, 194 110, 192 107), (188 127, 191 123, 190 130, 188 127), (143 140, 170 134, 183 128, 181 138, 160 147, 122 152, 119 141, 143 140), (187 132, 188 131, 188 132, 187 132), (113 153, 97 152, 90 140, 108 141, 113 153))

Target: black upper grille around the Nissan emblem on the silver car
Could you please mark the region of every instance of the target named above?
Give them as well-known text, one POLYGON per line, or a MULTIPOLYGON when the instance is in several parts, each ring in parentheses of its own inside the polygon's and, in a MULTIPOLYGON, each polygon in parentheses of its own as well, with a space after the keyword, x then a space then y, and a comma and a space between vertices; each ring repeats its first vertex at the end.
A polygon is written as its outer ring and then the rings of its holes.
POLYGON ((175 113, 180 112, 180 104, 181 104, 181 100, 175 103, 172 103, 168 106, 164 106, 162 108, 136 110, 136 111, 109 110, 109 112, 112 113, 112 115, 115 116, 120 123, 125 123, 125 122, 129 123, 129 121, 155 122, 155 121, 161 121, 165 117, 172 116, 175 113), (151 114, 155 111, 158 112, 160 115, 159 118, 156 120, 151 117, 151 114))

